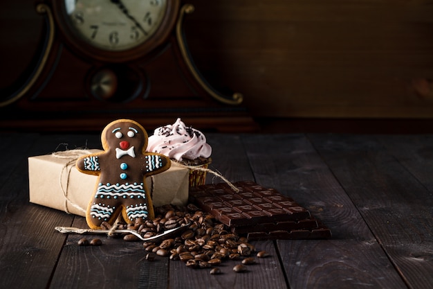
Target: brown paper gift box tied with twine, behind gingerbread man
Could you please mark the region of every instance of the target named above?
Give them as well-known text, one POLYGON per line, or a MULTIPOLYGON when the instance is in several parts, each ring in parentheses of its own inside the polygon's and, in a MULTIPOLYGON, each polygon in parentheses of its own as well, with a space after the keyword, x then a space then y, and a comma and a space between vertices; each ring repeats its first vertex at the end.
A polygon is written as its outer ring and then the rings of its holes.
MULTIPOLYGON (((98 151, 100 150, 85 152, 87 154, 98 151)), ((86 216, 87 204, 93 197, 98 177, 80 173, 75 168, 76 154, 83 154, 84 151, 67 152, 28 158, 30 202, 86 216)), ((188 177, 188 169, 179 166, 172 166, 163 173, 147 177, 146 182, 151 190, 154 206, 187 204, 188 177)))

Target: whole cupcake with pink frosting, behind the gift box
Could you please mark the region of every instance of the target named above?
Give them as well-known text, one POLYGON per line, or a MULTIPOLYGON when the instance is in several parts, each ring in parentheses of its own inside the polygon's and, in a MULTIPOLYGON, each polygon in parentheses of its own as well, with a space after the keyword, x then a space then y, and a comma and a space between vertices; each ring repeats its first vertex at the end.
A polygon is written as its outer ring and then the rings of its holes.
POLYGON ((172 125, 156 128, 147 143, 148 152, 158 152, 190 168, 190 186, 205 184, 206 170, 212 159, 212 148, 205 135, 187 127, 181 119, 172 125))

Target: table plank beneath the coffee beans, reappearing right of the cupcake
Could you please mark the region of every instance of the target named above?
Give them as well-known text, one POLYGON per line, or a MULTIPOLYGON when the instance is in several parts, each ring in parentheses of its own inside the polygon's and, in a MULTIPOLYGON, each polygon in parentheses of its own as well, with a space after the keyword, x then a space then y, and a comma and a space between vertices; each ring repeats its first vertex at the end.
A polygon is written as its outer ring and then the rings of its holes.
MULTIPOLYGON (((212 146, 212 170, 219 171, 231 182, 254 179, 239 135, 207 134, 207 138, 212 146)), ((208 176, 208 183, 212 182, 222 181, 208 176)), ((181 261, 170 261, 170 288, 287 288, 274 243, 259 241, 252 244, 257 250, 266 250, 270 256, 266 259, 256 258, 257 264, 249 266, 248 272, 244 274, 232 270, 240 261, 223 261, 220 275, 211 275, 209 270, 187 268, 181 261)))

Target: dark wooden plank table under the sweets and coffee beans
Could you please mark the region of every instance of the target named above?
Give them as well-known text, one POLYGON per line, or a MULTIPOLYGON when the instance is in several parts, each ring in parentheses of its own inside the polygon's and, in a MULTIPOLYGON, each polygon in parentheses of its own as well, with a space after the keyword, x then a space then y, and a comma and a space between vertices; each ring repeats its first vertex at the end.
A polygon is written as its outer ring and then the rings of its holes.
POLYGON ((0 288, 433 288, 433 135, 209 134, 212 169, 277 189, 333 234, 252 242, 270 256, 219 275, 147 261, 142 242, 79 247, 54 227, 84 218, 29 203, 27 157, 100 148, 98 135, 0 139, 0 288))

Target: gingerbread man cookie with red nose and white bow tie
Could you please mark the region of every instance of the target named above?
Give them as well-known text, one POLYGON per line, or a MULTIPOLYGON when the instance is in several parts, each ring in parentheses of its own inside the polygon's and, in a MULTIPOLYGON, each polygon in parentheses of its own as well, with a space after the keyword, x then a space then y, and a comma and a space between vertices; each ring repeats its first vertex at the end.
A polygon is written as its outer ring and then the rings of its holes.
POLYGON ((98 175, 95 194, 86 211, 92 229, 113 222, 122 213, 126 222, 154 218, 154 208, 145 178, 170 167, 165 155, 146 152, 147 132, 136 121, 119 119, 101 134, 103 152, 77 159, 82 173, 98 175))

